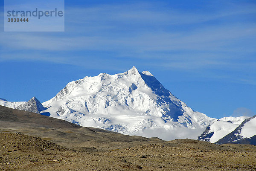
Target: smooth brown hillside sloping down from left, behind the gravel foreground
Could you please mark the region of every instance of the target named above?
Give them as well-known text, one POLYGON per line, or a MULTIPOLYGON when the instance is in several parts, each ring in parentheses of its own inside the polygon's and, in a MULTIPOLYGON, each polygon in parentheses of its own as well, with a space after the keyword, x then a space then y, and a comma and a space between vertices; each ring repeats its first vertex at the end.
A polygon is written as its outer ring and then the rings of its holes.
MULTIPOLYGON (((128 136, 98 128, 86 128, 79 125, 23 110, 0 106, 0 132, 20 132, 73 148, 75 146, 104 146, 102 142, 163 142, 157 138, 128 136)), ((111 146, 110 146, 111 147, 111 146)), ((116 148, 113 145, 113 148, 116 148)))

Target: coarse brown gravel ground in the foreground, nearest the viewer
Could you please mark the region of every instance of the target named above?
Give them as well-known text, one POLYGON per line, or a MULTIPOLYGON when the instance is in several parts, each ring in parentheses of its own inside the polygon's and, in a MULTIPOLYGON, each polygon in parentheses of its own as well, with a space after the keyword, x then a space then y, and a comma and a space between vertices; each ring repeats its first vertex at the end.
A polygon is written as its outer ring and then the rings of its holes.
POLYGON ((67 148, 22 133, 0 133, 0 171, 256 171, 253 145, 151 142, 67 148))

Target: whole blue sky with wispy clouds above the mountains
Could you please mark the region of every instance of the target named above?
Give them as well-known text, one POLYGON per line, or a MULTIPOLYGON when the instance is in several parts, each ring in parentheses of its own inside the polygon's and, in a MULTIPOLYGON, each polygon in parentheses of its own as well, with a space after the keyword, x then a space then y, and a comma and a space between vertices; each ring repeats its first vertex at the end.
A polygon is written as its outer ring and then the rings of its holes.
POLYGON ((3 32, 0 9, 0 98, 136 66, 208 116, 256 113, 255 1, 65 0, 65 32, 3 32))

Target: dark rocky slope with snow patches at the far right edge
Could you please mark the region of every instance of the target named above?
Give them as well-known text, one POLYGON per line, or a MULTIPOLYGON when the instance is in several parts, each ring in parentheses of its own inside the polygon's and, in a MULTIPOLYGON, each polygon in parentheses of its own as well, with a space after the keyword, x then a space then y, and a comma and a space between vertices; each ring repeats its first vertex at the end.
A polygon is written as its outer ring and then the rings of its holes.
POLYGON ((256 115, 245 119, 235 130, 216 142, 225 143, 256 145, 256 115))

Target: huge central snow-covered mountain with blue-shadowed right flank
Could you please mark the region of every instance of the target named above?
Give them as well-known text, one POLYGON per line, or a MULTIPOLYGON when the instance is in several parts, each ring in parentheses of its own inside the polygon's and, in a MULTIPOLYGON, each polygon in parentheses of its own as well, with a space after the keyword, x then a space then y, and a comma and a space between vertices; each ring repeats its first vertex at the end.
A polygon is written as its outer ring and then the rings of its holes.
POLYGON ((43 105, 47 110, 41 113, 81 126, 166 140, 195 139, 217 120, 193 111, 150 72, 135 67, 72 81, 43 105))

